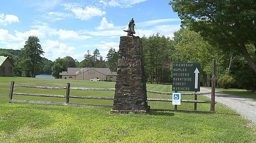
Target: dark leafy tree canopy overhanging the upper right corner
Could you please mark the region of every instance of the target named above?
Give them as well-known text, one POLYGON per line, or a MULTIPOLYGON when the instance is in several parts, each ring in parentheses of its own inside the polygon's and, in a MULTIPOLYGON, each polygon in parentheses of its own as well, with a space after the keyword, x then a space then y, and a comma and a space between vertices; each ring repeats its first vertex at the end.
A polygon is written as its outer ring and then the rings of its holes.
POLYGON ((242 53, 256 73, 255 0, 172 0, 181 23, 218 47, 242 53), (248 52, 252 44, 254 55, 248 52))

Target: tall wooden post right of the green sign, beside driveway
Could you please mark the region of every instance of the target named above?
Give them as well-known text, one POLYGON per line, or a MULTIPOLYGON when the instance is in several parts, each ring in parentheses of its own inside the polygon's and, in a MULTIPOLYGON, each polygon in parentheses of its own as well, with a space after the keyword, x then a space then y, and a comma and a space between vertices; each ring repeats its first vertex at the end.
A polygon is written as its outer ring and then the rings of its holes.
POLYGON ((215 82, 216 82, 216 60, 212 60, 212 78, 211 78, 211 111, 215 111, 215 82))

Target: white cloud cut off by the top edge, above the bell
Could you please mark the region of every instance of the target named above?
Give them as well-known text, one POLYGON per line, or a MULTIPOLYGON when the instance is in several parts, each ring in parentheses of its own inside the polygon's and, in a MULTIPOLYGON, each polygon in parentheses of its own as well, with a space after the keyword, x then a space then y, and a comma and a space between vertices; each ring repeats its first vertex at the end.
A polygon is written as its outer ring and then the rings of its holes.
POLYGON ((139 4, 147 0, 100 0, 105 7, 132 7, 134 4, 139 4))

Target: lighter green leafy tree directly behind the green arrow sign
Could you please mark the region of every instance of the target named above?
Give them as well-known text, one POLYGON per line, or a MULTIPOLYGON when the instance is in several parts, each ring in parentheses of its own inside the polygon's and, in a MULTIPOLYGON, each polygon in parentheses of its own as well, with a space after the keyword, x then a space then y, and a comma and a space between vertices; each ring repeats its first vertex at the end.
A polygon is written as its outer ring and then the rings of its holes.
POLYGON ((226 53, 211 46, 200 36, 200 33, 189 28, 174 32, 173 62, 199 62, 201 63, 201 82, 204 86, 211 86, 212 59, 217 61, 217 78, 225 75, 228 65, 225 64, 226 53))

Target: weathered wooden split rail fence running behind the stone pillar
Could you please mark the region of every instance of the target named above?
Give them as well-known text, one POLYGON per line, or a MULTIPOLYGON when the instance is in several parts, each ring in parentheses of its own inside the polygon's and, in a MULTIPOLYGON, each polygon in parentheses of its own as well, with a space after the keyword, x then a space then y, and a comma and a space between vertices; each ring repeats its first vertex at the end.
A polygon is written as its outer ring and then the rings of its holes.
MULTIPOLYGON (((94 104, 79 104, 79 103, 69 103, 70 98, 80 98, 80 99, 100 99, 100 100, 114 100, 114 97, 86 97, 86 96, 73 96, 70 95, 70 89, 78 90, 115 90, 114 88, 82 88, 82 87, 70 87, 70 83, 67 83, 66 87, 57 87, 57 86, 25 86, 25 85, 15 85, 15 82, 11 82, 10 92, 9 92, 9 103, 29 103, 29 104, 47 104, 47 105, 68 105, 68 106, 98 106, 98 107, 112 107, 107 105, 94 105, 94 104), (51 94, 33 94, 33 93, 16 93, 14 92, 15 87, 26 87, 26 88, 37 88, 37 89, 66 89, 66 95, 51 95, 51 94), (52 101, 34 101, 34 100, 17 100, 12 99, 13 95, 23 95, 23 96, 36 96, 36 97, 60 97, 66 98, 65 102, 52 102, 52 101)), ((159 92, 147 90, 148 93, 158 93, 158 94, 168 94, 168 92, 159 92)), ((193 95, 193 93, 181 93, 182 95, 193 95)), ((200 93, 200 94, 210 94, 210 93, 200 93)), ((172 102, 172 99, 162 99, 162 98, 147 98, 148 101, 165 101, 172 102)), ((197 103, 207 103, 212 104, 211 101, 207 100, 181 100, 181 102, 195 103, 194 111, 196 111, 197 103)), ((171 111, 179 111, 177 109, 171 111)), ((190 111, 188 111, 190 112, 190 111)), ((196 111, 196 112, 212 112, 212 111, 196 111)))

